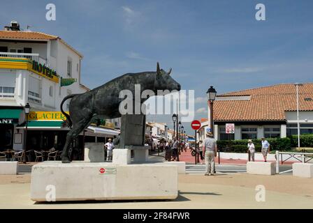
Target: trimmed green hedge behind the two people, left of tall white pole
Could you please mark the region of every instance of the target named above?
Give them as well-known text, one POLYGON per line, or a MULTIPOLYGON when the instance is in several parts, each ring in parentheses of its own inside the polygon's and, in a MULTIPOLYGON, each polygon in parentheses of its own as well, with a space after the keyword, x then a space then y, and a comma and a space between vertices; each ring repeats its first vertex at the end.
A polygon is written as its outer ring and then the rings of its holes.
MULTIPOLYGON (((290 151, 291 150, 291 139, 290 138, 277 138, 277 139, 266 139, 270 143, 270 150, 275 151, 290 151)), ((256 151, 261 151, 261 139, 252 139, 256 151)), ((247 139, 240 140, 218 140, 217 148, 222 152, 234 152, 234 153, 247 153, 247 139)))

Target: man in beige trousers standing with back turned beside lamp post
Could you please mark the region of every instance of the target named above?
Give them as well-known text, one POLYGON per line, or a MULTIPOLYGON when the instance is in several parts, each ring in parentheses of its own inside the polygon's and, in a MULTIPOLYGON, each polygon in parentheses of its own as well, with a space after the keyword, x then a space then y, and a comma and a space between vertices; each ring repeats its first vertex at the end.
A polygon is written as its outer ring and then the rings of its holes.
POLYGON ((203 154, 205 155, 205 176, 214 175, 215 162, 217 156, 217 141, 213 138, 212 132, 207 133, 207 138, 203 143, 203 154))

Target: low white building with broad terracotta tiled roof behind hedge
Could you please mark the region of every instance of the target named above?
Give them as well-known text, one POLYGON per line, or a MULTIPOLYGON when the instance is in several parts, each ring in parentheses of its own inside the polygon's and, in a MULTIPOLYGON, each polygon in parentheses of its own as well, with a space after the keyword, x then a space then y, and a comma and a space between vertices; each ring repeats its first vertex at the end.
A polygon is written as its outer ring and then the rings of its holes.
MULTIPOLYGON (((313 83, 298 86, 300 134, 313 133, 313 83)), ((208 112, 210 120, 210 107, 208 112)), ((216 139, 256 139, 297 134, 295 84, 276 84, 217 95, 214 101, 216 139), (226 133, 226 123, 235 133, 226 133)))

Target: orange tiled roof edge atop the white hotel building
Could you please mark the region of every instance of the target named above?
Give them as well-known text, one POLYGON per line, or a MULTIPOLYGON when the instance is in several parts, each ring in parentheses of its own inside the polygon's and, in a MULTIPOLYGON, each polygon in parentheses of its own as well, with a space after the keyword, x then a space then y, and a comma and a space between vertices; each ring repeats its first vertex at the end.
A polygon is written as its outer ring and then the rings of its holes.
POLYGON ((31 31, 0 31, 0 39, 17 40, 55 40, 57 36, 31 31))

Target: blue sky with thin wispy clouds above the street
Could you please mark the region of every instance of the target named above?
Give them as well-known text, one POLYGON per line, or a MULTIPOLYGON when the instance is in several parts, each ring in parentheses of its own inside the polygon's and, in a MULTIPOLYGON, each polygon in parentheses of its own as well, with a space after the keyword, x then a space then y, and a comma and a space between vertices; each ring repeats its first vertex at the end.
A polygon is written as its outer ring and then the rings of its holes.
MULTIPOLYGON (((182 89, 194 90, 195 118, 205 118, 209 86, 226 93, 312 82, 312 9, 311 0, 1 0, 0 26, 17 20, 60 36, 84 55, 82 83, 91 89, 126 72, 154 71, 159 61, 182 89), (45 20, 48 3, 55 21, 45 20), (265 21, 255 19, 257 3, 265 21)), ((169 115, 147 119, 173 125, 169 115)))

